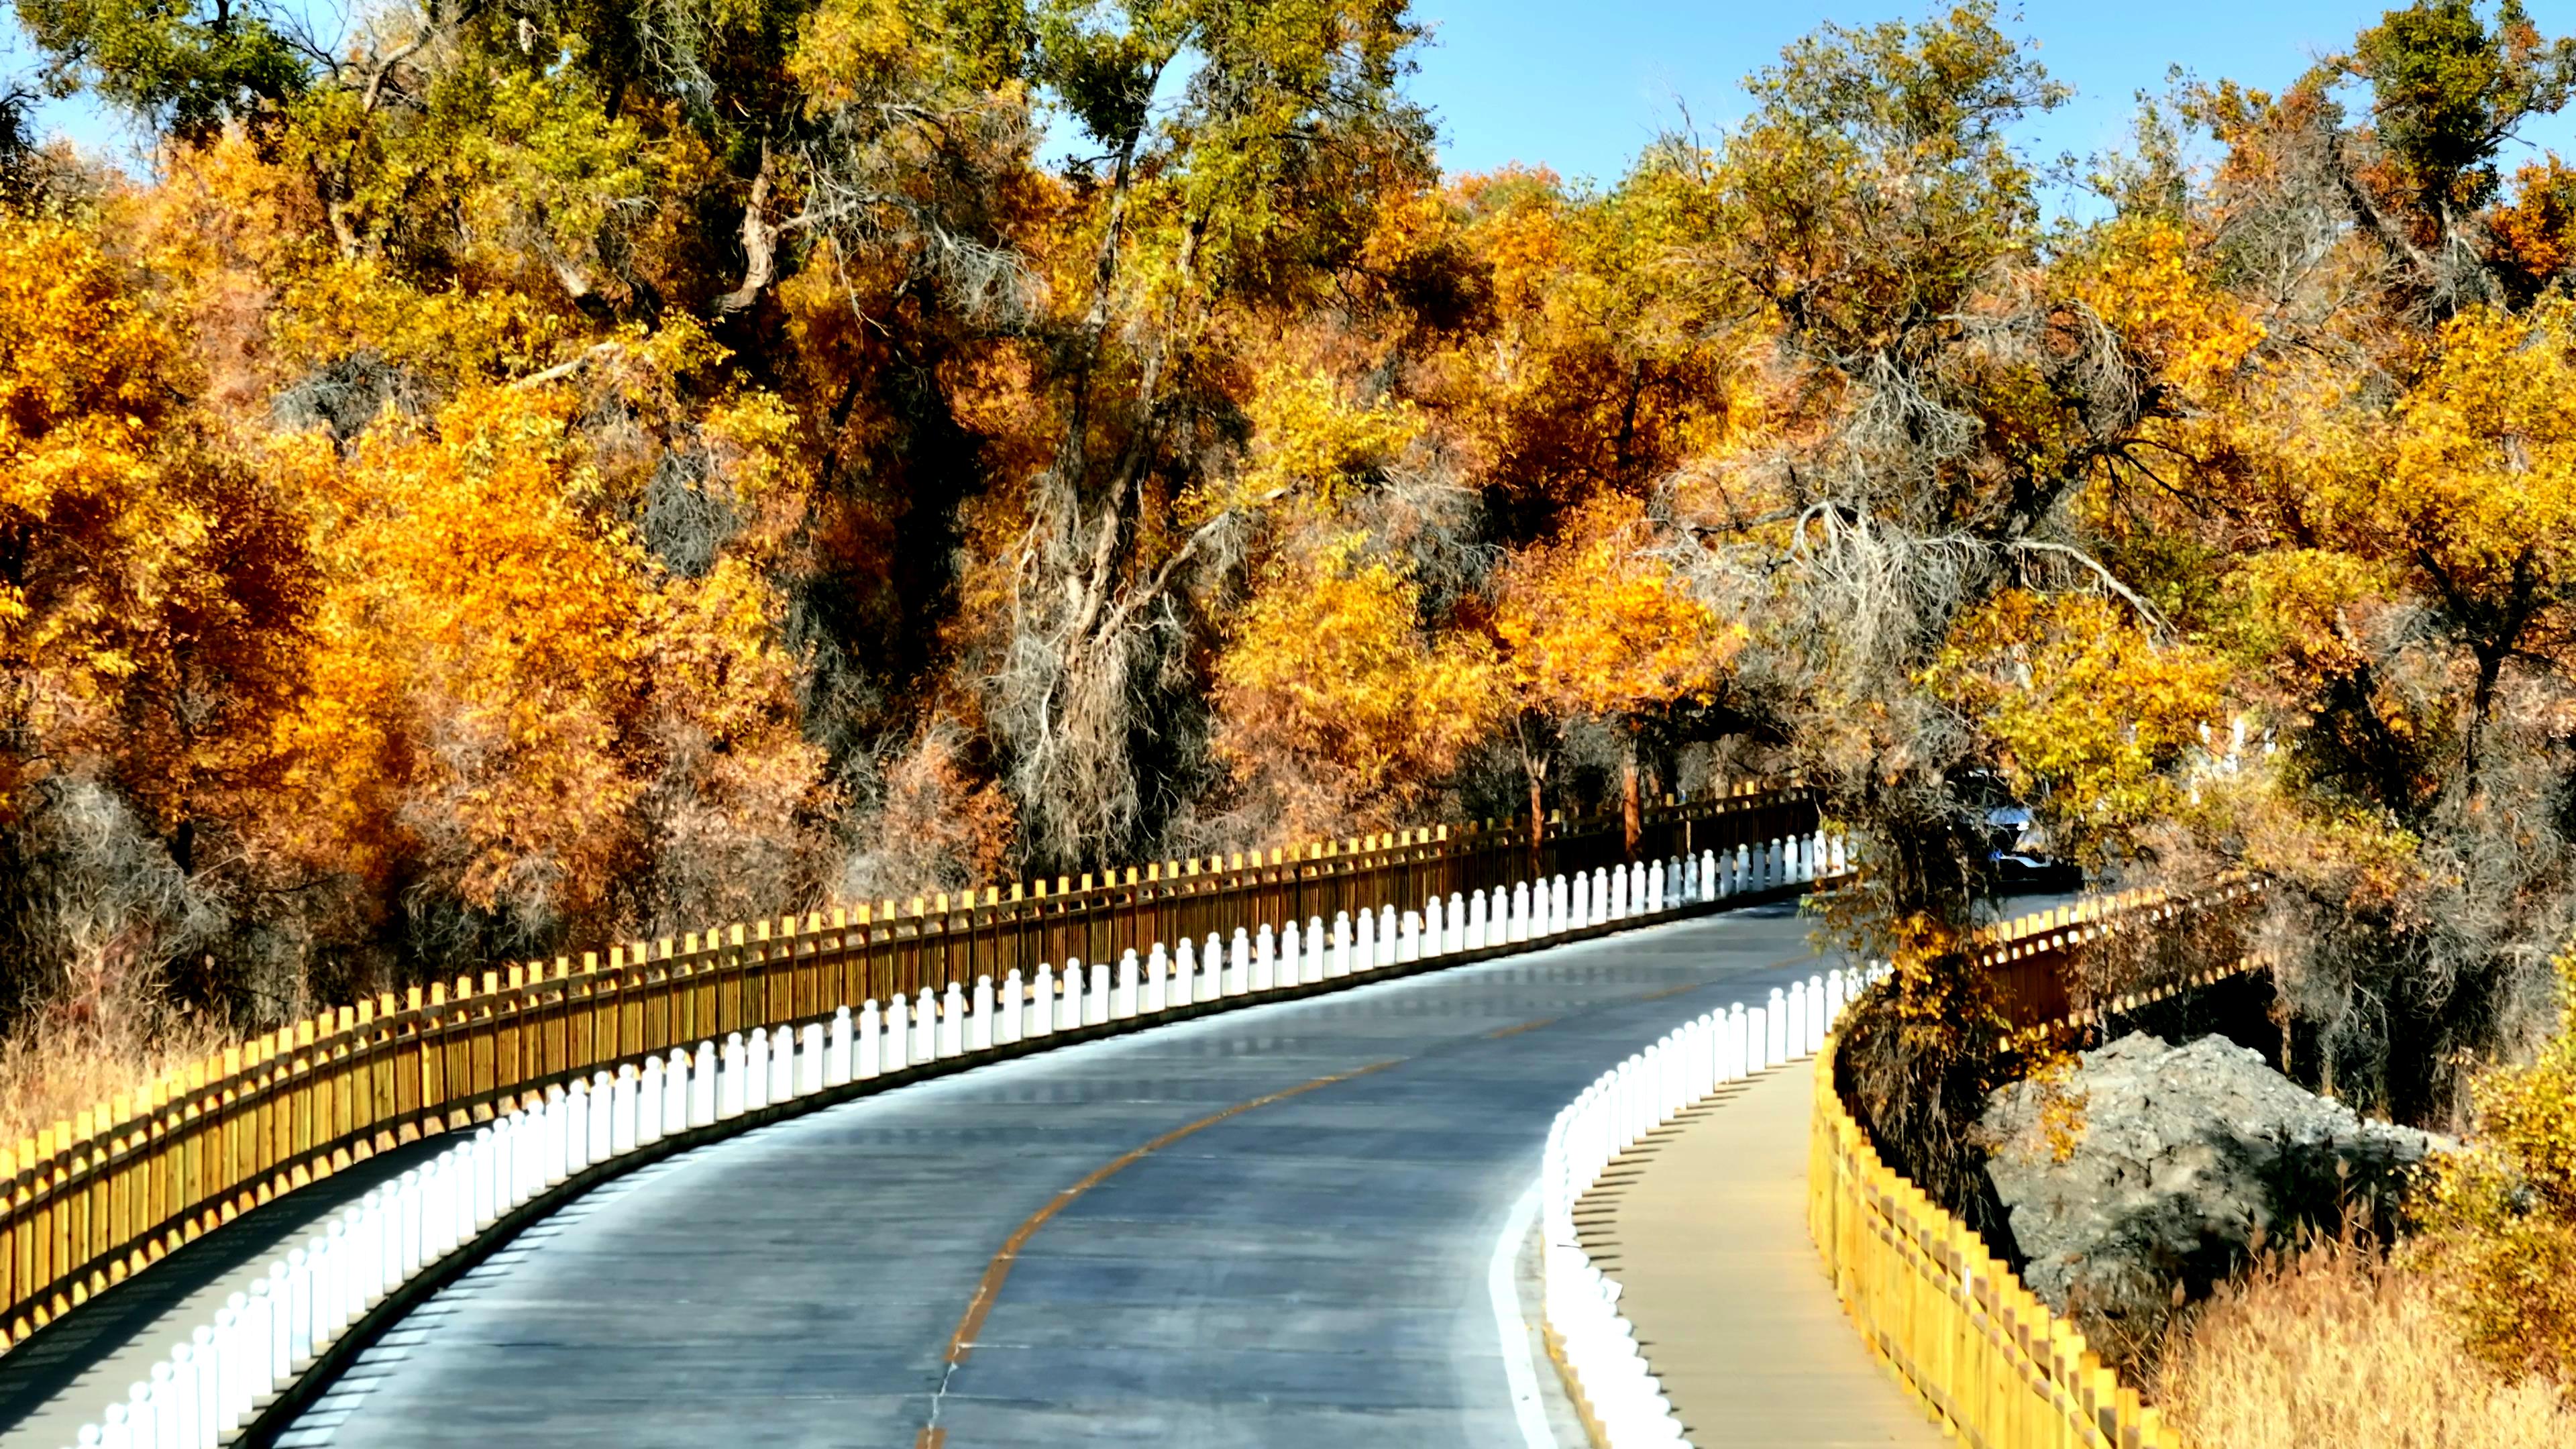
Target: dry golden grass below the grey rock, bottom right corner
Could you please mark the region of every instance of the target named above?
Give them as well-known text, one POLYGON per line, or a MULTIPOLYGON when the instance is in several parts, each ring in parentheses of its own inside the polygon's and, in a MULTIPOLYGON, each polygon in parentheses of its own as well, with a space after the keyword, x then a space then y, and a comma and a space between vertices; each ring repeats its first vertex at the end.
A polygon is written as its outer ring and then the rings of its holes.
POLYGON ((2205 1449, 2576 1444, 2558 1385, 2499 1382, 2421 1276, 2334 1243, 2272 1258, 2192 1312, 2156 1397, 2205 1449))

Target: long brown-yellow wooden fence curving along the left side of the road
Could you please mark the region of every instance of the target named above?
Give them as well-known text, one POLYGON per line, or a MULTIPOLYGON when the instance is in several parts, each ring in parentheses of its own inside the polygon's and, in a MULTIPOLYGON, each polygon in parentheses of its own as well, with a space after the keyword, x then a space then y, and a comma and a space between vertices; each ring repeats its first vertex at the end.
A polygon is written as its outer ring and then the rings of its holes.
MULTIPOLYGON (((1667 799, 1641 853, 1814 828, 1798 786, 1667 799)), ((1546 874, 1620 859, 1618 817, 1553 822, 1535 851, 1546 874)), ((281 1194, 600 1067, 1041 962, 1489 890, 1530 866, 1522 825, 1399 830, 732 923, 325 1011, 0 1147, 0 1346, 281 1194)))

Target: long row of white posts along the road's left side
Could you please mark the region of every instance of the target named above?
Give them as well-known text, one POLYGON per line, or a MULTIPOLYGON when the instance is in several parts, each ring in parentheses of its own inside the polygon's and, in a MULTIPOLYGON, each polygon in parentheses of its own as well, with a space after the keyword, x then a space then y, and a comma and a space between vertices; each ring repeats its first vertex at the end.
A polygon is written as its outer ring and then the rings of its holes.
POLYGON ((304 1245, 268 1266, 250 1292, 237 1292, 152 1366, 147 1382, 108 1405, 80 1444, 106 1449, 214 1449, 252 1421, 283 1385, 312 1366, 350 1325, 425 1266, 471 1243, 510 1209, 569 1176, 652 1147, 667 1134, 711 1127, 762 1106, 935 1062, 1015 1047, 1054 1031, 1159 1016, 1226 995, 1260 995, 1309 982, 1358 977, 1381 967, 1535 941, 1561 931, 1641 915, 1685 902, 1811 882, 1842 871, 1842 841, 1801 835, 1698 859, 1633 864, 1517 882, 1492 892, 1432 897, 1396 915, 1394 905, 1337 913, 1332 928, 1311 915, 1303 928, 1262 923, 1226 944, 1157 941, 1141 959, 1126 951, 1115 980, 1105 962, 1041 964, 1023 982, 1012 969, 999 990, 979 977, 974 995, 948 982, 907 1003, 842 1006, 829 1024, 734 1031, 724 1047, 626 1062, 616 1073, 546 1088, 459 1140, 425 1168, 368 1191, 304 1245))

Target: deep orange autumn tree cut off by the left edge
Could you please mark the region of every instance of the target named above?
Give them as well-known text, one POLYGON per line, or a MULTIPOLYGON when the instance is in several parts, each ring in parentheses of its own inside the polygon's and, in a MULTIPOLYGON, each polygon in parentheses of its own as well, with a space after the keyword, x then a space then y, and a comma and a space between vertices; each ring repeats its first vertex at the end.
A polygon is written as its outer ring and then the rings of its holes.
MULTIPOLYGON (((193 407, 183 325, 0 211, 0 933, 10 1006, 134 1006, 265 884, 314 601, 299 500, 193 407)), ((67 1026, 70 1029, 70 1026, 67 1026)))

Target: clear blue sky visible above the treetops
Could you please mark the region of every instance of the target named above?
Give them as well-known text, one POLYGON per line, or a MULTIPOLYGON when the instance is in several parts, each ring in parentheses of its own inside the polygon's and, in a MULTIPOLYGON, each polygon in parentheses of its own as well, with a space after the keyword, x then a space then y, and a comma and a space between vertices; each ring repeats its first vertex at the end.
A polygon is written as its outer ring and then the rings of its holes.
MULTIPOLYGON (((307 0, 337 15, 343 0, 307 0)), ((1548 165, 1613 180, 1687 106, 1703 131, 1744 111, 1741 80, 1821 21, 1870 23, 1927 13, 1924 0, 1414 0, 1435 26, 1412 93, 1443 126, 1443 165, 1548 165)), ((2040 41, 2040 62, 2076 101, 2035 121, 2035 155, 2089 155, 2128 137, 2133 95, 2164 90, 2166 67, 2280 88, 2339 49, 2388 0, 2025 0, 2007 26, 2040 41)), ((2576 31, 2576 0, 2530 0, 2543 34, 2576 31)), ((28 64, 23 44, 5 57, 28 64)), ((85 103, 49 106, 44 124, 93 147, 121 147, 118 126, 85 103)), ((2530 137, 2576 150, 2576 116, 2530 137)))

